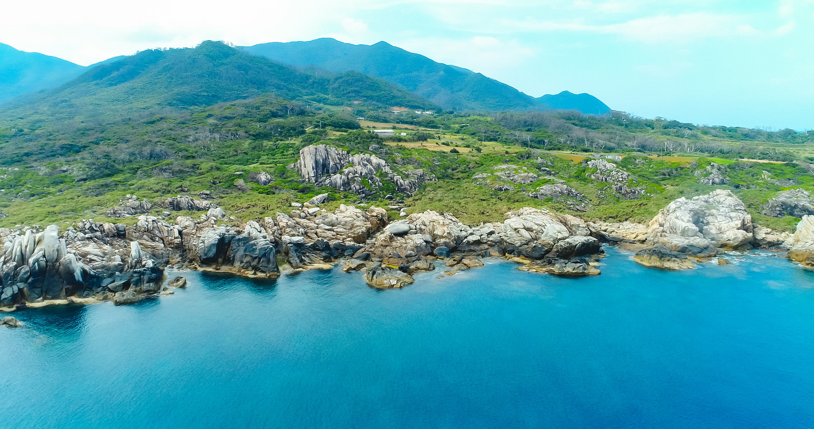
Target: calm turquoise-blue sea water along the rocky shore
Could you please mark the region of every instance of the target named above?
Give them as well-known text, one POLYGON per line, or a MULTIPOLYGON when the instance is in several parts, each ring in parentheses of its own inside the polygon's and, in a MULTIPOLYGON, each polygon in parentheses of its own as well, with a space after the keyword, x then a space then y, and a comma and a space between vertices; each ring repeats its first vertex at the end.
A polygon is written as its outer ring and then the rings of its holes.
POLYGON ((0 427, 814 427, 814 272, 608 253, 594 278, 186 272, 129 307, 17 312, 0 427))

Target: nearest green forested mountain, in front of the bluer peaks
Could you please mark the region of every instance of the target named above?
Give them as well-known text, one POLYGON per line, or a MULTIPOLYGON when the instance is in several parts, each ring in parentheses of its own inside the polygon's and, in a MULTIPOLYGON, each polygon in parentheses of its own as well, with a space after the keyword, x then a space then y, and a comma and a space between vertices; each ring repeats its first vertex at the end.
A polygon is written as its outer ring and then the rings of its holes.
POLYGON ((387 107, 435 107, 396 85, 358 72, 316 76, 212 41, 195 48, 143 50, 105 61, 33 102, 193 107, 260 94, 286 99, 319 96, 339 104, 362 101, 387 107))

